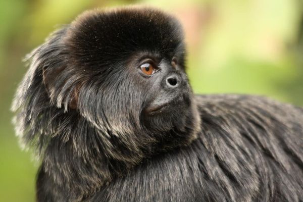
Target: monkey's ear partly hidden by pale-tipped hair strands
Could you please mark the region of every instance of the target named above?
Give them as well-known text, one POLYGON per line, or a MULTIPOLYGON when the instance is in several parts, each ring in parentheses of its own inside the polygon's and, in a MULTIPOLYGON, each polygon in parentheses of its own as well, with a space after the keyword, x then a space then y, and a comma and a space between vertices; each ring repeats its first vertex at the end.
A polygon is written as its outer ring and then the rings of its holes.
POLYGON ((43 83, 52 103, 65 109, 76 109, 80 85, 72 81, 72 71, 67 67, 44 67, 42 69, 43 83))

